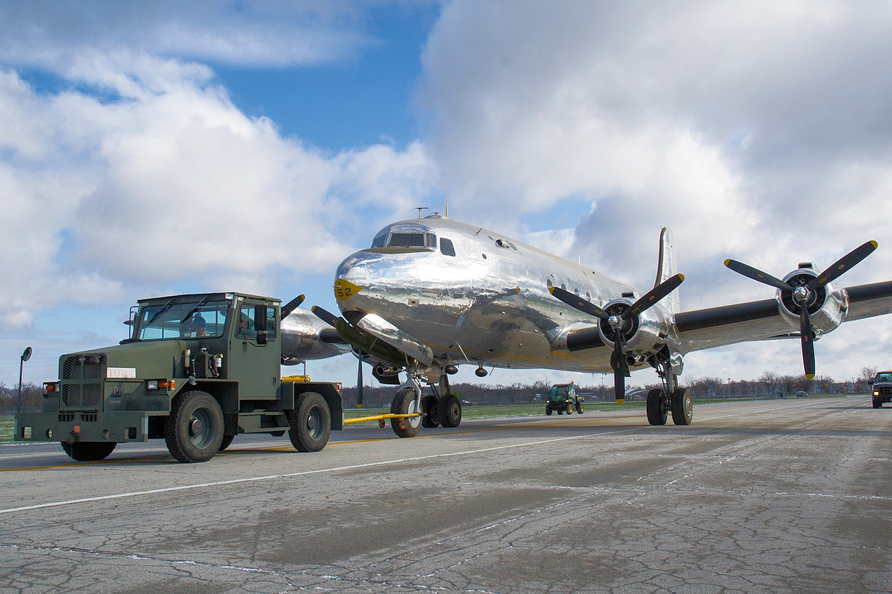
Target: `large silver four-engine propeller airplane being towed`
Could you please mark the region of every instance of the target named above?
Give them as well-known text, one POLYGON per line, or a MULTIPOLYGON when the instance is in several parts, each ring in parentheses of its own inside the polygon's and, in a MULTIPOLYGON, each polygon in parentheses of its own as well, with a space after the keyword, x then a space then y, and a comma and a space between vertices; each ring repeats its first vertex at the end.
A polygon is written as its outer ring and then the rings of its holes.
POLYGON ((799 338, 814 377, 814 339, 843 321, 892 313, 892 281, 838 287, 838 276, 876 247, 868 241, 819 272, 799 264, 783 279, 726 260, 731 270, 776 289, 774 298, 681 312, 672 233, 660 236, 657 281, 641 291, 497 232, 434 214, 387 225, 370 248, 337 269, 343 317, 312 310, 335 326, 385 384, 399 386, 394 432, 456 427, 461 403, 449 376, 459 364, 609 372, 617 402, 631 370, 653 367, 663 387, 647 397, 648 422, 689 425, 690 391, 679 387, 685 354, 750 340, 799 338), (400 382, 405 371, 407 379, 400 382), (433 394, 421 394, 421 382, 433 394))

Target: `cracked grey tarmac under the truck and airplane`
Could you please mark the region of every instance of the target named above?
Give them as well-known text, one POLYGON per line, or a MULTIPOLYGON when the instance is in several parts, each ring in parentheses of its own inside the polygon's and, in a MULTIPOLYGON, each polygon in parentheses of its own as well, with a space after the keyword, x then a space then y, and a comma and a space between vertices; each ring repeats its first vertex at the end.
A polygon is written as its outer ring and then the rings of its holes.
POLYGON ((892 590, 889 405, 594 408, 317 453, 240 435, 202 464, 3 446, 0 592, 892 590))

